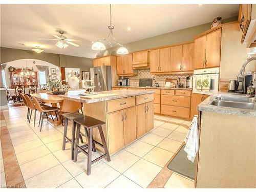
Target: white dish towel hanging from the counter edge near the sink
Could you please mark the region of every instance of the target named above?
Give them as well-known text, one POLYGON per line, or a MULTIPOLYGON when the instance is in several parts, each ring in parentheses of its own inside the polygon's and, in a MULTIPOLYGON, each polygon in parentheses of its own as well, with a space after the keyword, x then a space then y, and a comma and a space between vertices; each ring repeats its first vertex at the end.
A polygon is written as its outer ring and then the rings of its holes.
POLYGON ((187 159, 194 163, 198 151, 198 115, 194 115, 184 142, 187 159))

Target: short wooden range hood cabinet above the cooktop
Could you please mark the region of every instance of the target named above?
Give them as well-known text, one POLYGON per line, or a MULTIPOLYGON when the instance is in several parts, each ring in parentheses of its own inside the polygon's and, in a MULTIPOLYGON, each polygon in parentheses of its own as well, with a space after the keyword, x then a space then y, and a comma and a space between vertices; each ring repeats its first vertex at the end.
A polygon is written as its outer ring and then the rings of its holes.
POLYGON ((133 53, 133 67, 147 67, 150 62, 149 51, 141 51, 133 53))

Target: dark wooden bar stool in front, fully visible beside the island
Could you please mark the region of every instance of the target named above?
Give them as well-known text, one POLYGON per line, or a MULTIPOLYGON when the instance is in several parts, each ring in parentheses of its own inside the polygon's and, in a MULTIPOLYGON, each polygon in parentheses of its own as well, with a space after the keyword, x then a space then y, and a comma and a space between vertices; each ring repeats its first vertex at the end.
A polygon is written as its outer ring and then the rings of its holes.
MULTIPOLYGON (((74 119, 74 122, 76 123, 76 126, 77 126, 76 138, 75 138, 74 162, 77 161, 78 151, 87 155, 87 175, 90 175, 91 167, 92 167, 93 163, 99 161, 100 159, 102 159, 104 157, 106 157, 107 161, 110 161, 108 146, 106 145, 105 137, 104 137, 102 126, 101 126, 102 124, 105 124, 105 122, 100 121, 95 118, 92 118, 92 117, 89 117, 89 116, 86 116, 86 115, 84 115, 83 117, 74 119), (88 137, 87 137, 88 143, 81 143, 79 145, 79 135, 81 134, 81 132, 80 132, 81 125, 84 127, 85 130, 87 130, 86 134, 88 135, 88 137), (93 139, 93 129, 95 129, 96 127, 98 127, 102 144, 93 139), (92 161, 93 143, 97 143, 98 145, 103 147, 105 153, 103 155, 101 155, 100 157, 98 157, 97 159, 92 161), (86 152, 86 150, 88 150, 88 151, 86 152)), ((96 152, 96 148, 95 148, 95 152, 96 152)))

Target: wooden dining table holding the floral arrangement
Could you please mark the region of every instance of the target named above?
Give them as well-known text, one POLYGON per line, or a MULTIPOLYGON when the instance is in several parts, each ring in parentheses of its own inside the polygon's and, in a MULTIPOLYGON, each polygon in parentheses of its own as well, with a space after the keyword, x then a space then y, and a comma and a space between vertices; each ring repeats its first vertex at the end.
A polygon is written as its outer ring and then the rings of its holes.
MULTIPOLYGON (((63 100, 64 100, 63 98, 59 97, 58 95, 53 95, 53 94, 48 94, 48 93, 34 93, 31 95, 34 96, 39 102, 51 103, 52 106, 57 106, 60 109, 61 109, 61 106, 62 106, 63 100), (58 106, 58 104, 59 104, 59 106, 58 106)), ((52 115, 55 115, 55 114, 52 113, 52 115)), ((54 126, 60 125, 61 118, 58 118, 58 120, 55 119, 53 121, 53 124, 54 124, 54 126)))

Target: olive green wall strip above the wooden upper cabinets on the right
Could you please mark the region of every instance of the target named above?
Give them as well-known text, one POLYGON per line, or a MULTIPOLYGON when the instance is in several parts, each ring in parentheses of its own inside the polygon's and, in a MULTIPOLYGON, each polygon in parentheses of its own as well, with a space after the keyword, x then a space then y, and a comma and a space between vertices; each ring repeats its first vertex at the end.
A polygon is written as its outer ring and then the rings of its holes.
MULTIPOLYGON (((223 23, 233 22, 237 20, 238 17, 231 17, 227 19, 223 19, 223 23)), ((159 46, 178 44, 180 42, 192 41, 194 40, 194 36, 200 34, 208 29, 210 29, 210 24, 203 24, 195 27, 190 27, 186 29, 181 29, 179 31, 174 31, 170 33, 165 33, 162 35, 130 42, 129 44, 125 44, 124 47, 128 49, 129 52, 139 51, 143 49, 150 49, 159 46)), ((109 54, 115 55, 116 48, 108 49, 109 54)))

